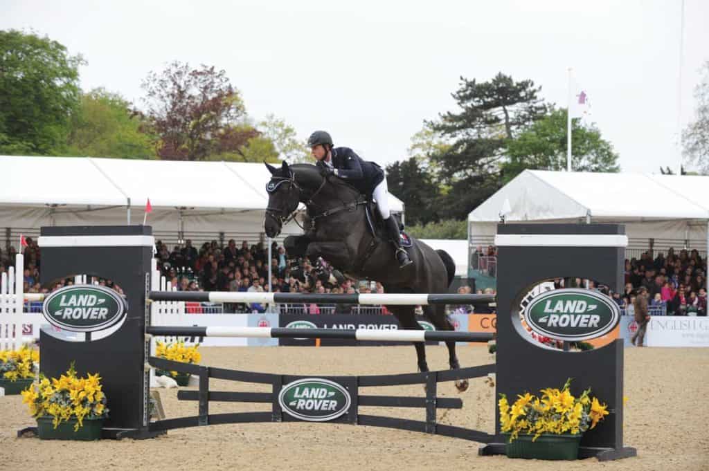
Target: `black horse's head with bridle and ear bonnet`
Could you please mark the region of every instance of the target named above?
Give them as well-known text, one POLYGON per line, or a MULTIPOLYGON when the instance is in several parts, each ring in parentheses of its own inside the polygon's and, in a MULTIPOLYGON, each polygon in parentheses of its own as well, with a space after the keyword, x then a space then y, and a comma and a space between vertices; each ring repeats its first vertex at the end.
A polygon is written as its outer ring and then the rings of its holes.
POLYGON ((266 167, 271 172, 271 179, 266 184, 268 208, 264 231, 268 237, 276 237, 281 233, 284 222, 298 209, 300 190, 296 183, 296 174, 286 161, 280 169, 269 164, 266 164, 266 167))

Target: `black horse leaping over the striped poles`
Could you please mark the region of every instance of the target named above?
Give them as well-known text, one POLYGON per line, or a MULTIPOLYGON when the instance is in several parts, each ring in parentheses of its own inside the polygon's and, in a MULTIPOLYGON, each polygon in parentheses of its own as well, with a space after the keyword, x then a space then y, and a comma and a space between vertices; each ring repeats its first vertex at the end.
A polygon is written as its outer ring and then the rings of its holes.
MULTIPOLYGON (((448 292, 455 274, 451 256, 409 237, 408 255, 413 264, 400 270, 393 246, 386 240, 384 231, 377 229, 376 224, 370 224, 374 218, 370 216, 372 211, 368 212, 370 202, 367 197, 344 179, 323 176, 320 169, 311 164, 289 165, 284 161, 280 169, 266 166, 272 175, 266 186, 269 200, 264 232, 267 236, 277 237, 281 233, 283 225, 295 217, 298 203, 306 206, 305 234, 286 237, 284 242, 291 256, 306 256, 313 263, 322 257, 350 278, 379 281, 386 293, 448 292)), ((396 316, 401 328, 423 329, 416 321, 415 306, 391 305, 386 308, 396 316)), ((445 306, 423 306, 423 314, 437 330, 454 330, 445 314, 445 306)), ((424 343, 413 342, 413 345, 418 369, 428 371, 424 343)), ((460 368, 455 342, 446 342, 446 346, 450 368, 460 368)), ((463 392, 468 388, 468 381, 458 380, 455 385, 463 392)))

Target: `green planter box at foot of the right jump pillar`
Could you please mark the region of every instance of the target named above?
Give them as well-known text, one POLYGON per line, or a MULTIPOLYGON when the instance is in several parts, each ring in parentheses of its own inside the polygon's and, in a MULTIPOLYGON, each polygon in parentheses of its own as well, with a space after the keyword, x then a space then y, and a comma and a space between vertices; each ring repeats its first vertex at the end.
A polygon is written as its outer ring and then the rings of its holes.
POLYGON ((533 435, 520 433, 512 443, 509 443, 509 433, 504 433, 507 443, 505 445, 508 458, 526 458, 534 460, 577 460, 579 459, 579 443, 581 434, 578 435, 553 435, 543 433, 537 440, 532 441, 533 435))

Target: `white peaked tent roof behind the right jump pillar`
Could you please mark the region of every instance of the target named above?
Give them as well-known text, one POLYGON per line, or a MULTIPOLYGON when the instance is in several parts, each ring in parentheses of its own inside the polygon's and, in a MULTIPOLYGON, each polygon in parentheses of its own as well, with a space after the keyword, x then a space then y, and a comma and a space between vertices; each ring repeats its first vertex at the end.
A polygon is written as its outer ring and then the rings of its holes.
POLYGON ((471 211, 469 222, 709 219, 709 176, 525 170, 471 211))

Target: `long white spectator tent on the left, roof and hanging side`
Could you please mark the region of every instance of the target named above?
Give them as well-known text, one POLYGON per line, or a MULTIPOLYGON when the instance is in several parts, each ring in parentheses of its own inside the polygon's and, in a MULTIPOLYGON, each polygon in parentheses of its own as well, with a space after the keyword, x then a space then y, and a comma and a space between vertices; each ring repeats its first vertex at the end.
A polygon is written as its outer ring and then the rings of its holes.
MULTIPOLYGON (((43 225, 147 224, 176 241, 254 239, 262 232, 270 174, 233 162, 0 156, 0 227, 33 234, 43 225)), ((389 195, 393 212, 403 203, 389 195)), ((293 222, 284 234, 298 234, 293 222)))

